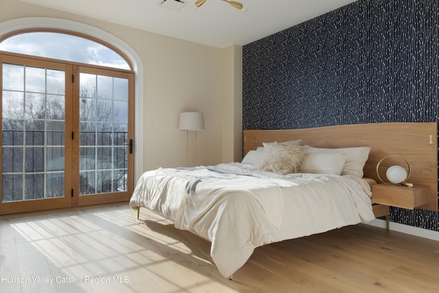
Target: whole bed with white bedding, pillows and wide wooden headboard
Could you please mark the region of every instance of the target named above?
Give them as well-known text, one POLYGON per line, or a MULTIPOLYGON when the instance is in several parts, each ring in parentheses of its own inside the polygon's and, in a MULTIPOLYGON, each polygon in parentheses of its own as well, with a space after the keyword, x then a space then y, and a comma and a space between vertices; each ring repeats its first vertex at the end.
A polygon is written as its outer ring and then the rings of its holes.
MULTIPOLYGON (((230 277, 258 246, 383 215, 372 207, 373 166, 387 154, 429 162, 425 155, 437 150, 436 133, 436 124, 410 123, 245 130, 243 161, 147 171, 130 207, 150 209, 209 240, 215 265, 230 277), (413 135, 414 143, 401 134, 396 139, 401 130, 413 135)), ((418 176, 416 162, 411 167, 418 176)), ((436 182, 437 164, 422 165, 426 169, 436 174, 436 182)))

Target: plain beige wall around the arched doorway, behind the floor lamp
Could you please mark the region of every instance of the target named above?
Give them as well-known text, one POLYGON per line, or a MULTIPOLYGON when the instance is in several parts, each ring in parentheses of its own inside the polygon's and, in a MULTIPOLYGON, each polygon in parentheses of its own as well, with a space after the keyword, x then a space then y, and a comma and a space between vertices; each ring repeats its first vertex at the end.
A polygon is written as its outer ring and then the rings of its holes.
MULTIPOLYGON (((91 25, 138 54, 143 63, 138 81, 143 83, 143 95, 136 120, 143 139, 138 137, 135 147, 141 152, 137 166, 142 171, 186 165, 186 132, 178 130, 179 114, 184 111, 204 113, 206 130, 198 132, 198 165, 241 159, 241 47, 219 49, 18 0, 0 0, 0 23, 23 17, 91 25)), ((193 151, 193 144, 189 147, 193 151)), ((193 164, 193 152, 189 156, 193 164)), ((136 179, 139 175, 136 172, 136 179)))

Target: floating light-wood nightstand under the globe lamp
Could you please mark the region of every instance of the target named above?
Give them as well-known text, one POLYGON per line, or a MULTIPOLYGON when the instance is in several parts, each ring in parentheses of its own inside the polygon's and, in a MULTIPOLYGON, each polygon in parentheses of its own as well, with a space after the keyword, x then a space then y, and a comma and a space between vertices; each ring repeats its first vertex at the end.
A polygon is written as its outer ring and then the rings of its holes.
POLYGON ((429 203, 429 187, 376 184, 372 186, 372 203, 414 209, 429 203))

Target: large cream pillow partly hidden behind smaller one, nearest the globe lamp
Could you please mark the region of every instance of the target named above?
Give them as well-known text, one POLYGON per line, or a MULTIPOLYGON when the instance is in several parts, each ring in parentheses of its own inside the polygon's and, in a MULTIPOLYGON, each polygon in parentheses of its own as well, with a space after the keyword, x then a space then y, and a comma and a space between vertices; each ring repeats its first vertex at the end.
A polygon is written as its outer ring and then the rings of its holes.
POLYGON ((370 147, 314 148, 310 145, 305 145, 305 148, 309 154, 343 154, 345 162, 342 169, 342 175, 352 175, 360 178, 364 175, 364 164, 368 161, 370 152, 370 147))

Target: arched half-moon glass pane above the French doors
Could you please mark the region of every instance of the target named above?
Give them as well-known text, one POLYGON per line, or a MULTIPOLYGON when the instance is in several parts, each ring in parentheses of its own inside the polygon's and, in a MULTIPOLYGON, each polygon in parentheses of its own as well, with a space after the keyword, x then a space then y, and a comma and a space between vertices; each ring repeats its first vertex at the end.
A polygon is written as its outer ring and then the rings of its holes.
POLYGON ((0 43, 0 51, 130 69, 126 60, 114 50, 93 40, 57 32, 29 32, 11 36, 0 43))

